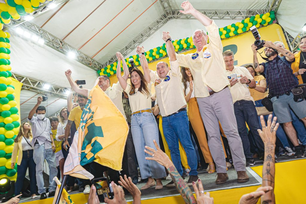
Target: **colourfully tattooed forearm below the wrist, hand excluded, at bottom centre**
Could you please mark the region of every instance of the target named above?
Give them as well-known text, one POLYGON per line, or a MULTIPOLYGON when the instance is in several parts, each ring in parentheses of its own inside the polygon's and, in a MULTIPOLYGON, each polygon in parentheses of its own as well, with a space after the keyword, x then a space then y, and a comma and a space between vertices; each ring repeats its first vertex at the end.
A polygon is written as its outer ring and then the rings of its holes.
POLYGON ((196 203, 196 198, 193 196, 192 191, 190 190, 186 182, 183 180, 181 175, 177 172, 174 165, 170 166, 167 170, 172 178, 172 181, 175 184, 175 187, 182 195, 185 203, 196 203))

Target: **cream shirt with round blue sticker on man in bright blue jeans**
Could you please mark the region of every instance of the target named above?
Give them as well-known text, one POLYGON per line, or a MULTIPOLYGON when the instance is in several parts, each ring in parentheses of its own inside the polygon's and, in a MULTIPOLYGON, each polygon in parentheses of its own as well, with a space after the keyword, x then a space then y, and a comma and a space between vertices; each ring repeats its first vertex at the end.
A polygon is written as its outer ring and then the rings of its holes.
POLYGON ((156 72, 152 70, 150 72, 162 117, 175 113, 187 105, 182 89, 182 74, 177 61, 170 61, 170 68, 164 79, 159 78, 156 72))

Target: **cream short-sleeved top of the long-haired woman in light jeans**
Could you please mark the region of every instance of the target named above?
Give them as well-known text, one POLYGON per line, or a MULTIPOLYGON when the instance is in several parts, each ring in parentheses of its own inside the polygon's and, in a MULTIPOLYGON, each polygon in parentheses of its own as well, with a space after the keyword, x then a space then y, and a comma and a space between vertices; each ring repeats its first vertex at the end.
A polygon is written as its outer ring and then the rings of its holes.
POLYGON ((143 109, 151 109, 151 83, 147 85, 148 90, 150 92, 150 95, 147 96, 147 94, 141 93, 138 91, 138 88, 135 89, 135 94, 134 95, 129 95, 129 92, 131 90, 131 85, 127 84, 125 88, 125 92, 129 96, 129 102, 131 106, 132 113, 143 110, 143 109))

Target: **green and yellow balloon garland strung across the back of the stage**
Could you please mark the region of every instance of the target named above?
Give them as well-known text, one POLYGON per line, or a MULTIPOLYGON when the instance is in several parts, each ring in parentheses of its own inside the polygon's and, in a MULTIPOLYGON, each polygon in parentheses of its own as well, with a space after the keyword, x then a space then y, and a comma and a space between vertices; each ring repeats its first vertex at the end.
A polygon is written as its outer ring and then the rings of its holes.
MULTIPOLYGON (((239 35, 241 33, 244 33, 250 30, 250 27, 252 27, 253 25, 255 25, 258 28, 260 25, 266 26, 268 24, 272 24, 274 20, 275 20, 274 11, 271 11, 270 13, 260 14, 260 15, 257 14, 256 16, 246 18, 242 20, 241 22, 237 22, 236 24, 231 24, 224 28, 219 28, 220 38, 226 39, 226 38, 229 38, 235 35, 239 35)), ((183 49, 189 50, 189 49, 195 48, 191 37, 174 40, 172 41, 172 44, 176 52, 181 51, 183 49)), ((146 58, 147 58, 147 61, 149 62, 149 61, 158 59, 159 57, 164 57, 166 54, 167 54, 166 44, 164 43, 162 46, 159 46, 159 47, 156 47, 156 48, 153 48, 147 51, 146 58)), ((138 54, 132 55, 129 58, 134 59, 136 66, 140 65, 140 59, 139 59, 138 54)), ((129 63, 129 58, 125 59, 125 63, 130 67, 131 64, 129 63)), ((120 67, 121 67, 121 71, 123 71, 122 62, 121 62, 120 67)), ((97 72, 99 75, 111 76, 113 74, 116 74, 117 72, 116 70, 117 70, 117 62, 114 62, 110 65, 107 65, 103 69, 98 70, 97 72)))

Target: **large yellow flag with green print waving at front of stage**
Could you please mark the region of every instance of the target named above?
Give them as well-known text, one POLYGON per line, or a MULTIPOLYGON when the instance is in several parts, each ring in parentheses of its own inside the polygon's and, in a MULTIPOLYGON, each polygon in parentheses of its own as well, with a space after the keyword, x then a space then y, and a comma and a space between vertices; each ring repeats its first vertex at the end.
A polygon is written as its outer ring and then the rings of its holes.
POLYGON ((96 85, 91 89, 83 109, 78 136, 74 136, 69 149, 70 156, 67 157, 69 161, 65 161, 64 174, 90 179, 90 175, 84 175, 85 169, 82 166, 93 161, 114 170, 121 170, 128 133, 129 127, 124 116, 96 85), (79 161, 76 161, 74 153, 76 139, 79 161))

